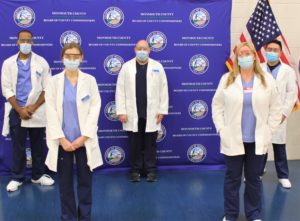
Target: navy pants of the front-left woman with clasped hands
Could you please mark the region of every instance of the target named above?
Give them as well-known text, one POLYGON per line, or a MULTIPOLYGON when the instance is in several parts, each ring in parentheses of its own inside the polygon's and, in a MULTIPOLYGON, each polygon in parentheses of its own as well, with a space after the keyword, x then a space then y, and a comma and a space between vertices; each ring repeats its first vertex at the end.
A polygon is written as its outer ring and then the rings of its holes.
POLYGON ((66 152, 59 147, 58 176, 61 202, 61 220, 63 221, 90 221, 92 211, 92 172, 87 165, 85 147, 73 152, 66 152), (74 193, 73 165, 76 159, 77 197, 76 206, 74 193))

